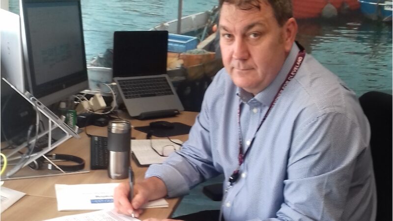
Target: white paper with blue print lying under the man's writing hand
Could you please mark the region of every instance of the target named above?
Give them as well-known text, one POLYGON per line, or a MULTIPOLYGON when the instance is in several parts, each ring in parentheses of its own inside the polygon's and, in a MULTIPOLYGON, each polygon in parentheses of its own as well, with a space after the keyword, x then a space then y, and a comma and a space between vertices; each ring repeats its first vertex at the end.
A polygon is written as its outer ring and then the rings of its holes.
MULTIPOLYGON (((113 204, 113 191, 118 183, 55 184, 57 210, 102 210, 111 209, 113 204)), ((168 208, 165 199, 148 202, 142 208, 168 208)))

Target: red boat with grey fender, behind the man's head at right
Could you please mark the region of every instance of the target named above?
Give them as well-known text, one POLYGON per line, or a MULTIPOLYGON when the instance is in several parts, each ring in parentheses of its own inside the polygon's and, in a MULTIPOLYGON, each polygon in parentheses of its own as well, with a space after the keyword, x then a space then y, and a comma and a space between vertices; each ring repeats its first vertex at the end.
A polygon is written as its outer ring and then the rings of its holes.
POLYGON ((293 16, 297 19, 329 18, 360 7, 358 0, 292 0, 292 4, 293 16))

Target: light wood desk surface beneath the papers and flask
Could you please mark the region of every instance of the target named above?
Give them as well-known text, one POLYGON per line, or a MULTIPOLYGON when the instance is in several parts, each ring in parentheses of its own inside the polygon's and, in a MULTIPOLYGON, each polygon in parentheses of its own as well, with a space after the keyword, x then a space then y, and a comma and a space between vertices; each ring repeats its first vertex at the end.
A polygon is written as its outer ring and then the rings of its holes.
MULTIPOLYGON (((171 122, 182 122, 188 125, 193 125, 197 112, 183 111, 181 114, 165 118, 163 120, 171 122)), ((131 120, 133 126, 146 126, 153 120, 131 120)), ((107 127, 87 127, 87 133, 91 135, 107 136, 107 127)), ((81 133, 81 138, 70 138, 52 152, 72 154, 85 159, 85 169, 89 169, 90 165, 90 138, 85 133, 81 133)), ((137 130, 132 130, 132 136, 137 139, 145 139, 146 134, 141 133, 137 130)), ((180 139, 185 141, 188 135, 175 136, 174 139, 180 139)), ((136 182, 140 181, 144 177, 144 173, 147 167, 138 167, 134 161, 132 167, 135 173, 136 182)), ((23 169, 30 169, 27 166, 23 169)), ((127 180, 127 179, 126 179, 127 180)), ((5 210, 1 214, 2 221, 42 221, 60 216, 87 213, 91 211, 57 211, 55 184, 94 184, 94 183, 120 183, 124 180, 112 180, 108 177, 107 170, 90 170, 89 173, 81 174, 69 174, 61 176, 51 177, 40 177, 40 178, 29 178, 19 180, 8 180, 5 181, 3 186, 27 193, 18 202, 12 205, 10 208, 5 210)), ((180 198, 168 198, 169 208, 154 208, 146 209, 140 216, 140 219, 147 219, 150 217, 154 218, 168 218, 177 204, 180 198)))

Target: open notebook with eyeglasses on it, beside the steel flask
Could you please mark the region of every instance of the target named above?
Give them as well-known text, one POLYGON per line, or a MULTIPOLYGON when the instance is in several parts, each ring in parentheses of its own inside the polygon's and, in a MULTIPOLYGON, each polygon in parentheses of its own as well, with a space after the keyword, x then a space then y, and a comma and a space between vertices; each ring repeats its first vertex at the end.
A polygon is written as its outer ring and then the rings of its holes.
MULTIPOLYGON (((133 139, 131 140, 131 151, 137 158, 140 165, 162 164, 167 157, 158 155, 151 147, 163 155, 169 155, 175 149, 179 150, 180 146, 172 143, 168 139, 152 139, 150 145, 149 139, 133 139)), ((182 143, 181 140, 173 139, 176 143, 182 143)))

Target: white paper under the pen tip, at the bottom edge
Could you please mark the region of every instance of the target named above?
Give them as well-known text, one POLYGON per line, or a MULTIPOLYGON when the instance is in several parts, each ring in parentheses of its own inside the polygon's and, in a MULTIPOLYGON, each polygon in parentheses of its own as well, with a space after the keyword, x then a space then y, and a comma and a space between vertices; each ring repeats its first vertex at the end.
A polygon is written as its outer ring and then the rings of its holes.
POLYGON ((99 210, 90 213, 57 217, 46 221, 140 221, 112 210, 99 210))

